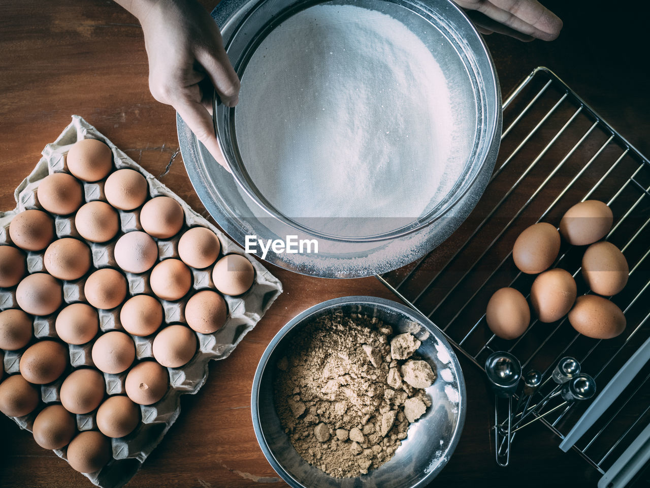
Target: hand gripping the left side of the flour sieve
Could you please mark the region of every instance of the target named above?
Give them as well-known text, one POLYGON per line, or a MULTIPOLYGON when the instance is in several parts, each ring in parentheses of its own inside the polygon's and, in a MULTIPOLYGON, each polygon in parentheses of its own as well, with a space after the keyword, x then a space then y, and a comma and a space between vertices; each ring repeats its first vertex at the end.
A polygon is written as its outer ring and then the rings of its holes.
POLYGON ((239 102, 239 78, 218 27, 196 0, 116 0, 144 31, 149 90, 172 105, 214 159, 227 169, 214 135, 213 89, 221 102, 239 102))

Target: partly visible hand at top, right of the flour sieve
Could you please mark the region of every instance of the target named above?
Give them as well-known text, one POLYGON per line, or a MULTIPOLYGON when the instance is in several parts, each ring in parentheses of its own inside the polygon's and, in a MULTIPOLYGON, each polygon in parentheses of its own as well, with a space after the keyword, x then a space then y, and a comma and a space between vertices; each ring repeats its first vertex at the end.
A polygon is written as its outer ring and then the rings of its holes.
POLYGON ((523 41, 553 40, 562 20, 537 0, 454 0, 482 34, 507 34, 523 41), (473 14, 480 12, 484 16, 473 14))

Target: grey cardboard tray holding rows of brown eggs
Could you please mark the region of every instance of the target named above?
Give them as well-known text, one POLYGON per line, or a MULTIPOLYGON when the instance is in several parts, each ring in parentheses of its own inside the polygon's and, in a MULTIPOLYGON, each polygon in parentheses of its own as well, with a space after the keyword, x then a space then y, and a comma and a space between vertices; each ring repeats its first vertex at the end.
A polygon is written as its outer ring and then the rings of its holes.
MULTIPOLYGON (((185 211, 185 225, 177 236, 171 239, 155 239, 158 244, 158 260, 170 257, 178 257, 178 240, 181 234, 192 226, 204 226, 211 229, 219 238, 222 245, 220 256, 237 252, 243 254, 240 247, 228 239, 215 226, 193 211, 183 200, 172 193, 165 185, 140 167, 131 158, 116 148, 112 142, 99 133, 93 126, 88 124, 79 116, 72 117, 72 123, 61 133, 57 141, 47 144, 43 151, 43 157, 38 162, 31 174, 23 180, 14 192, 17 206, 12 211, 0 213, 0 244, 11 243, 8 234, 9 223, 16 213, 27 209, 42 210, 36 197, 36 188, 40 180, 50 173, 67 171, 65 155, 70 146, 79 139, 99 139, 109 145, 113 153, 114 166, 116 169, 132 168, 142 173, 149 184, 149 196, 157 197, 165 195, 172 197, 179 202, 185 211)), ((104 200, 103 181, 98 183, 83 183, 85 201, 104 200)), ((116 240, 125 232, 142 230, 140 226, 139 208, 134 211, 118 210, 121 221, 121 232, 108 243, 88 243, 92 250, 92 267, 83 278, 75 281, 63 282, 63 296, 66 306, 70 303, 85 301, 84 284, 86 277, 94 269, 102 267, 113 267, 119 269, 114 258, 116 240)), ((66 217, 55 217, 55 229, 57 238, 76 237, 83 241, 75 230, 74 215, 66 217)), ((38 273, 45 271, 44 252, 27 252, 27 271, 38 273)), ((185 393, 194 394, 203 386, 207 379, 208 361, 211 359, 224 359, 237 347, 240 340, 248 331, 255 327, 255 324, 268 307, 282 292, 282 285, 279 280, 269 273, 263 265, 254 259, 250 259, 255 268, 255 282, 252 288, 239 297, 224 296, 228 307, 228 317, 224 326, 213 334, 200 334, 198 336, 198 349, 192 360, 181 368, 167 368, 170 378, 170 388, 162 400, 153 405, 140 405, 141 423, 135 431, 121 439, 111 439, 112 457, 109 463, 98 472, 85 474, 92 483, 103 488, 121 487, 129 481, 140 468, 144 460, 151 454, 151 451, 159 444, 168 429, 180 413, 179 396, 185 393)), ((212 266, 207 269, 194 269, 192 271, 192 290, 215 289, 211 277, 212 266)), ((121 270, 120 270, 121 271, 121 270)), ((150 271, 150 270, 149 270, 150 271)), ((45 271, 46 272, 46 271, 45 271)), ((123 275, 129 283, 129 295, 147 293, 153 295, 149 286, 149 272, 141 275, 125 273, 123 275)), ((192 291, 188 293, 191 295, 192 291)), ((157 297, 155 297, 157 298, 157 297)), ((164 310, 164 323, 183 323, 185 321, 184 310, 188 296, 180 301, 168 302, 159 300, 164 310)), ((0 288, 0 310, 6 308, 18 308, 16 303, 16 287, 0 288)), ((36 339, 57 338, 55 331, 55 319, 58 311, 51 316, 34 317, 34 337, 36 339)), ((120 307, 112 310, 98 310, 99 328, 101 332, 123 330, 120 325, 120 307)), ((132 336, 136 347, 136 362, 138 360, 153 358, 151 345, 153 337, 132 336)), ((91 349, 94 340, 83 346, 69 346, 70 367, 55 383, 41 386, 40 406, 31 414, 23 417, 14 417, 16 423, 23 429, 31 431, 36 414, 47 403, 59 402, 60 385, 64 377, 73 368, 79 366, 93 366, 91 349)), ((8 374, 19 372, 19 360, 22 350, 5 351, 4 366, 8 374)), ((134 363, 135 364, 135 363, 134 363)), ((104 374, 106 381, 106 392, 108 395, 125 394, 124 382, 127 372, 117 375, 104 374)), ((89 414, 77 414, 77 428, 79 431, 97 429, 95 412, 89 414)), ((66 459, 66 448, 55 451, 59 457, 66 459)))

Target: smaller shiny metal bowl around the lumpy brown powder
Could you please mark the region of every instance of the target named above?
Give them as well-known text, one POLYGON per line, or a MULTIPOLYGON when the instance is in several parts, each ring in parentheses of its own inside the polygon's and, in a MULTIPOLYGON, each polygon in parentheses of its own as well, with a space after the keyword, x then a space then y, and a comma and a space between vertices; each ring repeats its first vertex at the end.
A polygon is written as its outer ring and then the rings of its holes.
POLYGON ((445 467, 454 452, 465 423, 466 408, 465 379, 442 332, 411 308, 376 297, 329 300, 291 319, 266 347, 255 371, 251 395, 253 427, 259 446, 274 470, 293 488, 424 486, 445 467), (391 325, 395 332, 411 332, 422 341, 417 353, 437 371, 434 384, 426 389, 432 406, 411 424, 408 437, 395 456, 381 467, 356 478, 333 478, 304 461, 280 426, 274 405, 275 365, 284 355, 284 346, 307 323, 339 311, 367 314, 391 325))

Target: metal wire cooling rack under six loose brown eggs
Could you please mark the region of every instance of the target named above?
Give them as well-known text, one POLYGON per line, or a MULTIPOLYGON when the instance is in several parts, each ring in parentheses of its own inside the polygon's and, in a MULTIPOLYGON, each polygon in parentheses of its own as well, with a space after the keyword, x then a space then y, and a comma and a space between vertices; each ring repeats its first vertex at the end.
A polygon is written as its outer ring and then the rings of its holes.
MULTIPOLYGON (((510 351, 523 372, 534 368, 548 377, 561 357, 571 355, 601 390, 650 335, 650 163, 547 68, 528 75, 503 109, 499 159, 476 209, 428 256, 378 278, 479 368, 493 351, 510 351), (528 297, 535 278, 513 263, 519 233, 539 221, 557 226, 566 210, 588 199, 612 208, 606 239, 629 263, 628 284, 612 297, 625 313, 625 332, 595 340, 578 334, 566 318, 532 318, 516 340, 492 334, 485 321, 491 294, 512 286, 528 297)), ((563 243, 554 264, 573 274, 578 294, 590 293, 580 275, 583 252, 563 243)), ((564 438, 587 406, 573 403, 541 421, 564 438)), ((648 422, 650 364, 574 448, 604 473, 648 422)))

